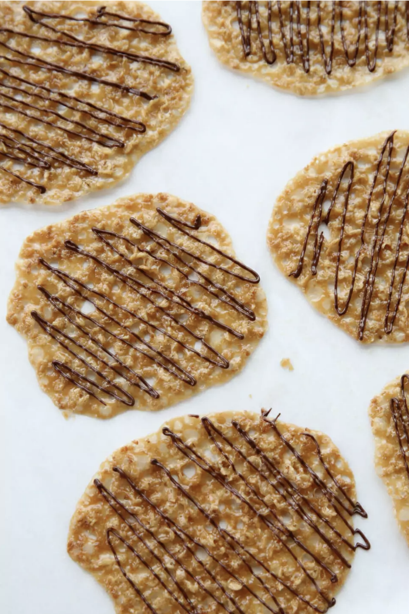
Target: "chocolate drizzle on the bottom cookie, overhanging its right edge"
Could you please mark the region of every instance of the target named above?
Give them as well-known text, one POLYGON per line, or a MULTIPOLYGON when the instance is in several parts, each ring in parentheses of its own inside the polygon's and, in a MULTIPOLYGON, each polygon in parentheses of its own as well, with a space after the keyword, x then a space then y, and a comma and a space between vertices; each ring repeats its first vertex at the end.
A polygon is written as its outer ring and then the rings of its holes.
MULTIPOLYGON (((311 589, 308 589, 308 594, 310 596, 307 598, 302 594, 302 590, 294 589, 291 584, 280 578, 279 574, 270 569, 270 562, 263 560, 265 558, 264 556, 254 553, 254 548, 252 548, 251 551, 248 550, 245 543, 243 543, 239 538, 235 537, 232 530, 223 528, 220 521, 216 520, 216 516, 210 515, 210 513, 205 510, 201 503, 196 500, 191 492, 189 492, 189 488, 182 486, 177 477, 170 472, 169 468, 158 460, 152 459, 151 465, 156 467, 159 472, 163 474, 164 479, 169 480, 178 494, 192 504, 193 509, 199 514, 198 518, 202 517, 203 522, 207 523, 210 527, 212 527, 212 529, 215 530, 213 535, 215 535, 215 537, 222 542, 221 546, 217 546, 216 542, 214 540, 212 541, 212 544, 216 548, 216 554, 213 553, 210 546, 207 547, 204 545, 201 540, 194 537, 190 530, 183 529, 183 527, 180 526, 180 521, 178 523, 177 520, 171 518, 162 508, 158 507, 158 505, 155 503, 155 497, 153 500, 148 497, 147 493, 139 488, 132 476, 120 467, 114 467, 113 472, 117 473, 121 480, 131 487, 135 500, 130 498, 129 495, 126 496, 125 500, 120 500, 118 496, 116 496, 109 488, 104 486, 100 480, 94 481, 94 485, 99 491, 99 494, 101 494, 105 502, 110 505, 112 510, 118 515, 118 518, 120 518, 124 525, 126 525, 126 527, 128 527, 130 530, 132 534, 132 541, 133 537, 136 537, 141 544, 141 549, 150 553, 155 561, 158 562, 162 572, 166 573, 167 578, 172 581, 171 589, 168 585, 165 585, 161 577, 156 575, 156 572, 152 569, 151 564, 146 561, 141 553, 141 550, 137 551, 136 547, 132 545, 132 542, 129 542, 129 538, 124 537, 122 534, 122 529, 107 530, 107 542, 112 550, 118 568, 120 569, 124 578, 126 578, 128 583, 131 585, 136 595, 142 599, 143 603, 147 605, 153 614, 158 613, 153 605, 148 601, 147 597, 143 595, 142 591, 140 591, 137 584, 131 577, 129 577, 123 563, 121 563, 120 554, 118 554, 118 551, 115 549, 113 538, 126 546, 127 550, 132 553, 145 568, 150 570, 151 574, 157 581, 159 581, 162 588, 166 589, 167 594, 169 594, 169 596, 175 602, 177 602, 177 604, 180 605, 185 612, 200 612, 200 604, 202 604, 202 600, 206 599, 206 597, 210 597, 216 604, 223 608, 224 612, 233 614, 233 612, 237 611, 240 614, 245 614, 245 611, 247 610, 243 611, 244 605, 242 598, 239 597, 239 594, 237 593, 233 595, 229 592, 229 589, 227 588, 229 582, 227 582, 226 586, 226 581, 221 580, 223 576, 220 575, 220 571, 226 572, 227 577, 234 580, 235 583, 245 590, 243 597, 246 595, 245 599, 247 603, 248 595, 250 595, 256 599, 259 604, 263 605, 273 614, 285 614, 285 610, 280 604, 279 597, 276 595, 277 589, 274 587, 277 586, 279 586, 278 590, 280 593, 282 591, 290 593, 293 597, 296 597, 301 604, 306 605, 313 612, 324 614, 329 610, 329 608, 335 605, 335 599, 329 599, 326 594, 324 594, 322 589, 319 588, 315 577, 313 577, 312 574, 305 568, 302 560, 299 558, 299 554, 297 554, 297 551, 294 550, 294 548, 300 548, 300 550, 304 551, 304 553, 308 553, 316 564, 319 565, 319 567, 321 567, 325 573, 329 574, 332 581, 337 582, 337 576, 321 559, 315 556, 315 554, 312 553, 307 546, 300 542, 296 535, 294 535, 294 533, 291 532, 288 527, 286 527, 285 523, 280 518, 280 515, 284 513, 283 509, 281 507, 275 508, 270 502, 272 499, 269 497, 267 490, 262 488, 261 485, 263 483, 268 484, 269 488, 272 488, 273 491, 280 496, 283 502, 286 503, 286 510, 288 512, 294 511, 302 521, 308 523, 308 525, 315 531, 318 540, 323 542, 329 548, 329 550, 331 550, 332 554, 334 554, 335 558, 337 558, 343 566, 349 568, 350 563, 342 554, 342 551, 340 550, 341 545, 349 551, 355 551, 357 548, 369 550, 370 544, 367 538, 365 538, 361 531, 354 530, 346 518, 348 516, 353 516, 354 514, 359 514, 362 517, 367 518, 367 515, 359 503, 355 504, 352 502, 337 478, 332 475, 331 470, 323 457, 318 441, 316 441, 316 439, 310 433, 305 433, 305 437, 311 438, 316 446, 318 461, 323 466, 324 471, 329 478, 329 485, 327 485, 323 479, 316 475, 312 467, 305 462, 304 458, 297 453, 291 443, 282 435, 277 426, 277 419, 273 421, 269 420, 268 414, 269 412, 262 414, 263 421, 269 424, 277 439, 280 440, 281 444, 288 448, 291 454, 296 458, 299 463, 300 472, 309 473, 310 476, 312 476, 316 487, 321 492, 321 495, 327 499, 336 516, 342 519, 343 524, 345 524, 348 531, 351 533, 351 537, 354 537, 354 535, 360 535, 363 538, 364 543, 354 545, 353 540, 350 542, 347 538, 345 538, 334 526, 333 522, 325 518, 319 512, 319 510, 316 509, 315 505, 308 499, 308 495, 302 494, 297 486, 295 486, 292 481, 286 477, 283 472, 281 472, 275 462, 273 462, 272 458, 270 458, 270 456, 259 447, 258 443, 256 443, 250 434, 244 430, 242 426, 240 426, 239 422, 233 420, 232 426, 234 427, 235 431, 239 433, 240 440, 247 449, 233 443, 231 438, 227 437, 224 432, 218 429, 215 424, 210 421, 210 419, 202 418, 201 420, 202 427, 204 427, 205 432, 208 435, 209 443, 212 443, 220 454, 221 463, 224 466, 226 466, 227 463, 227 465, 231 467, 233 476, 239 478, 241 483, 245 485, 245 489, 248 492, 247 495, 242 494, 242 491, 238 491, 237 488, 233 486, 232 479, 228 478, 225 472, 222 474, 220 470, 215 467, 215 465, 206 461, 204 457, 193 448, 193 446, 188 445, 179 435, 166 427, 163 429, 163 433, 166 435, 166 437, 169 437, 178 453, 185 456, 190 462, 193 462, 194 465, 199 468, 199 470, 207 473, 210 478, 216 480, 216 482, 226 489, 226 491, 229 492, 233 498, 239 499, 240 502, 246 505, 247 508, 250 509, 250 512, 264 524, 266 530, 272 531, 273 539, 280 542, 281 546, 288 551, 292 559, 294 559, 294 563, 302 571, 302 574, 304 575, 307 583, 311 586, 311 589), (247 450, 250 451, 250 454, 247 450), (254 455, 259 457, 261 461, 260 468, 254 464, 254 455), (243 466, 251 468, 252 472, 249 478, 246 478, 237 469, 234 458, 237 458, 240 464, 244 463, 243 466), (255 478, 257 478, 257 480, 255 478), (257 505, 261 505, 259 510, 254 507, 255 500, 257 500, 257 505), (148 511, 145 518, 150 518, 149 524, 146 524, 146 522, 140 518, 141 505, 143 505, 143 507, 145 507, 148 511), (264 510, 269 511, 269 516, 266 515, 264 510), (153 511, 153 516, 151 515, 151 511, 153 511), (268 518, 272 518, 272 520, 268 520, 268 518), (321 529, 318 524, 321 524, 321 526, 325 524, 326 529, 328 529, 328 535, 324 533, 324 530, 321 529), (176 549, 168 546, 155 534, 153 527, 157 526, 166 526, 167 529, 170 529, 172 538, 170 538, 169 543, 175 544, 176 549), (138 527, 138 530, 136 530, 136 527, 138 527), (150 538, 150 542, 147 542, 146 538, 144 537, 145 534, 147 534, 147 536, 150 538), (204 551, 207 558, 199 558, 197 556, 198 548, 204 551), (227 561, 226 556, 223 557, 223 561, 218 556, 218 552, 220 550, 226 551, 226 553, 229 554, 227 561), (158 554, 159 552, 160 554, 158 554), (172 564, 171 568, 169 569, 167 566, 167 561, 170 561, 170 559, 174 561, 176 567, 172 564), (210 569, 210 562, 215 563, 216 568, 214 565, 212 565, 212 569, 210 569), (208 581, 204 582, 197 576, 197 572, 195 571, 197 565, 199 565, 210 580, 212 580, 211 583, 208 583, 208 581), (258 571, 256 567, 261 569, 261 571, 258 571), (191 581, 193 581, 193 585, 196 586, 195 589, 185 587, 183 581, 177 579, 179 578, 177 573, 178 569, 185 572, 185 576, 186 579, 189 580, 189 584, 191 584, 191 581), (252 580, 250 583, 246 579, 248 574, 250 574, 250 578, 252 580), (251 588, 254 581, 256 581, 257 585, 256 590, 251 588), (271 585, 272 582, 273 586, 271 585), (314 593, 313 597, 311 597, 311 591, 314 593), (272 600, 271 605, 269 604, 270 599, 272 600)), ((211 485, 209 485, 209 488, 211 488, 211 485)), ((183 578, 183 576, 181 575, 180 578, 183 578)))

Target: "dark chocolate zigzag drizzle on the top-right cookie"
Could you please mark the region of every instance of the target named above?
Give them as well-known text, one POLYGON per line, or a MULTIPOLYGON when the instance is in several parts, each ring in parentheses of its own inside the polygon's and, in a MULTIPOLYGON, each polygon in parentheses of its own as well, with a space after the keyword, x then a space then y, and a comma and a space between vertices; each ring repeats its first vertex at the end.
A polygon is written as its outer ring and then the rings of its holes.
MULTIPOLYGON (((330 4, 330 2, 326 2, 326 4, 330 4)), ((384 9, 384 36, 386 41, 386 49, 389 53, 392 53, 394 50, 394 39, 397 27, 397 15, 399 8, 399 0, 394 2, 394 10, 392 17, 392 25, 389 27, 389 1, 386 1, 384 9)), ((281 35, 281 44, 283 45, 283 49, 286 56, 287 64, 294 64, 296 62, 296 49, 299 50, 302 66, 304 68, 304 72, 308 74, 310 72, 310 30, 311 30, 311 1, 308 0, 307 7, 305 9, 305 26, 304 33, 302 31, 302 19, 301 14, 304 12, 302 9, 301 0, 291 0, 289 2, 289 24, 286 26, 285 19, 283 15, 283 9, 281 7, 281 1, 277 0, 275 6, 277 5, 277 14, 276 11, 273 11, 272 1, 267 1, 267 23, 268 23, 268 40, 269 40, 269 51, 267 52, 266 42, 264 41, 264 34, 262 32, 261 25, 261 17, 260 17, 260 8, 258 0, 249 0, 247 9, 243 8, 241 0, 237 0, 235 2, 236 12, 237 12, 237 20, 239 21, 240 34, 242 37, 242 45, 243 52, 245 58, 248 58, 253 53, 251 47, 251 33, 254 28, 254 15, 256 17, 257 24, 257 34, 259 39, 259 44, 262 51, 262 56, 264 61, 267 64, 274 64, 277 61, 277 52, 274 47, 274 39, 273 39, 273 31, 272 25, 273 23, 278 23, 280 26, 280 35, 281 35), (294 18, 294 12, 296 17, 294 18), (245 15, 247 17, 245 18, 245 15), (297 42, 294 41, 294 29, 297 29, 297 42), (286 30, 289 30, 289 41, 286 34, 286 30)), ((275 9, 274 6, 274 9, 275 9)), ((409 41, 409 6, 407 2, 405 2, 406 10, 405 17, 407 20, 407 37, 409 41)), ((356 32, 356 41, 353 47, 353 55, 350 56, 350 49, 348 49, 348 42, 346 41, 345 35, 345 21, 344 21, 344 6, 342 0, 331 0, 331 19, 329 21, 328 29, 330 31, 330 41, 329 41, 329 53, 327 55, 326 45, 324 41, 324 33, 323 33, 323 25, 322 25, 322 12, 321 12, 321 1, 317 0, 316 2, 316 12, 317 12, 317 28, 319 33, 319 52, 321 53, 321 58, 323 60, 324 68, 327 75, 331 75, 332 66, 334 60, 334 48, 335 48, 335 37, 340 36, 343 45, 343 51, 345 55, 345 61, 353 68, 356 65, 358 54, 359 54, 359 44, 361 42, 362 34, 365 39, 365 60, 367 63, 367 68, 369 72, 374 72, 377 68, 377 60, 378 60, 378 51, 379 51, 379 36, 381 30, 381 17, 382 17, 382 4, 381 0, 373 0, 373 2, 368 2, 367 0, 359 0, 359 13, 357 17, 357 32, 356 32), (375 9, 371 10, 371 5, 376 6, 375 9), (375 26, 375 46, 372 51, 371 58, 371 50, 370 50, 370 28, 369 28, 369 15, 372 11, 376 11, 377 23, 375 26), (339 13, 339 19, 337 19, 337 12, 339 13), (337 23, 339 22, 339 34, 337 31, 337 23)))

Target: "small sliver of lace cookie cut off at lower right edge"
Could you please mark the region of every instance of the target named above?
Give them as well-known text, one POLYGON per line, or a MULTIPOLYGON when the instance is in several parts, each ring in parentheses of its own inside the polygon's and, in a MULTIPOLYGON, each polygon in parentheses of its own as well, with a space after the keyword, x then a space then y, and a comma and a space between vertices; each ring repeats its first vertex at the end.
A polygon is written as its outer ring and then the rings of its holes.
POLYGON ((409 545, 409 375, 386 386, 369 409, 375 465, 388 488, 400 529, 409 545))

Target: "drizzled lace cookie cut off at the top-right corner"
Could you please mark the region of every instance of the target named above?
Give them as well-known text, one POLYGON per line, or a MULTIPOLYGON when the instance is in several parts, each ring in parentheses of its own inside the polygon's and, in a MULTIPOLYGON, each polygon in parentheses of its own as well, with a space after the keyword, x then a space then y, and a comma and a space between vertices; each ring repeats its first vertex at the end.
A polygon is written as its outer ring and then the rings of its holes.
POLYGON ((409 66, 407 2, 205 0, 219 60, 283 90, 315 96, 409 66))

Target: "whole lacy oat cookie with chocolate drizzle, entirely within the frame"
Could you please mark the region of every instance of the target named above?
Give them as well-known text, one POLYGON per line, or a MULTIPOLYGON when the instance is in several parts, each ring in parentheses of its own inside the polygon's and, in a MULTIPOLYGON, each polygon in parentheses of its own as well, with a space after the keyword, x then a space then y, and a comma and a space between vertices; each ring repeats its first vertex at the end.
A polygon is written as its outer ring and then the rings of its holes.
POLYGON ((267 303, 214 216, 140 194, 29 236, 7 319, 61 410, 110 418, 230 379, 266 331, 267 303))

